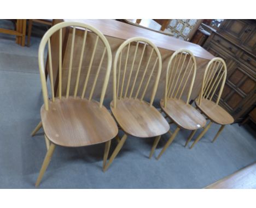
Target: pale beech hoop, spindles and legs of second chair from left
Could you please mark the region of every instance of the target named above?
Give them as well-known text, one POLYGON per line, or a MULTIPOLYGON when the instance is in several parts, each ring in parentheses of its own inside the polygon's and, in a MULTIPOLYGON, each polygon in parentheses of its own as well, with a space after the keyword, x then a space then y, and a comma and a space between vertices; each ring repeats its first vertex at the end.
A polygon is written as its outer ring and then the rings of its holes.
MULTIPOLYGON (((135 100, 139 100, 141 102, 146 102, 146 101, 144 101, 144 95, 146 94, 146 91, 148 90, 149 82, 152 81, 152 75, 153 75, 153 72, 155 71, 157 63, 158 63, 158 69, 156 69, 157 74, 156 74, 156 77, 155 77, 155 83, 154 83, 152 94, 151 94, 150 101, 149 101, 150 107, 153 107, 153 101, 154 101, 154 98, 155 98, 156 90, 158 88, 159 78, 160 78, 160 75, 161 75, 161 68, 162 68, 161 54, 160 54, 158 48, 153 44, 153 42, 149 41, 146 38, 141 38, 141 37, 130 38, 130 39, 124 41, 123 44, 120 45, 120 47, 117 50, 117 53, 115 54, 115 58, 114 58, 114 62, 113 62, 113 101, 112 101, 113 109, 115 109, 117 107, 117 101, 122 100, 122 99, 135 99, 135 100), (127 71, 127 60, 129 59, 130 45, 132 43, 135 43, 135 42, 136 42, 135 53, 132 56, 131 70, 130 70, 130 74, 128 75, 128 79, 127 79, 128 81, 127 81, 126 87, 125 87, 124 83, 125 83, 125 75, 126 75, 126 71, 127 71), (135 64, 135 59, 137 57, 137 50, 138 50, 138 45, 139 44, 144 44, 144 46, 143 46, 141 57, 139 58, 138 68, 137 68, 137 70, 133 70, 134 64, 135 64), (147 46, 151 47, 152 49, 149 53, 150 55, 149 55, 149 58, 146 62, 147 63, 146 68, 144 68, 142 78, 138 82, 139 85, 138 85, 138 88, 137 88, 137 91, 136 91, 135 90, 135 85, 136 85, 136 82, 137 82, 138 72, 141 69, 142 59, 144 57, 144 52, 145 52, 145 49, 146 49, 147 46), (125 66, 124 66, 123 77, 120 77, 121 76, 120 73, 121 73, 122 52, 123 52, 125 47, 127 47, 127 52, 126 52, 126 56, 125 56, 125 59, 124 59, 125 60, 125 66), (146 85, 143 89, 142 88, 142 83, 144 81, 146 72, 148 70, 149 63, 152 59, 153 52, 155 52, 156 59, 153 60, 153 63, 154 63, 153 68, 149 72, 148 81, 146 82, 146 85), (118 64, 118 62, 119 62, 119 64, 118 64), (118 74, 117 74, 117 70, 118 70, 118 74), (135 78, 134 78, 133 82, 131 83, 131 76, 132 76, 132 73, 134 71, 135 71, 135 78), (129 87, 130 87, 130 91, 129 91, 129 87), (120 88, 120 90, 119 90, 119 88, 120 88), (140 97, 138 97, 140 92, 142 92, 142 94, 141 94, 140 97)), ((113 112, 113 109, 112 109, 112 112, 113 112)), ((121 126, 119 126, 119 127, 120 127, 121 130, 123 130, 123 128, 121 126)), ((123 131, 125 132, 125 130, 123 130, 123 131)), ((118 152, 120 151, 120 149, 124 145, 125 140, 127 139, 127 136, 129 136, 129 133, 125 132, 123 137, 121 139, 119 139, 119 143, 118 143, 117 147, 115 148, 113 154, 110 156, 109 162, 106 164, 106 166, 103 169, 104 171, 106 171, 109 168, 110 164, 113 162, 114 158, 117 156, 118 152)), ((160 139, 160 137, 161 137, 161 135, 156 136, 156 138, 159 138, 159 139, 160 139)))

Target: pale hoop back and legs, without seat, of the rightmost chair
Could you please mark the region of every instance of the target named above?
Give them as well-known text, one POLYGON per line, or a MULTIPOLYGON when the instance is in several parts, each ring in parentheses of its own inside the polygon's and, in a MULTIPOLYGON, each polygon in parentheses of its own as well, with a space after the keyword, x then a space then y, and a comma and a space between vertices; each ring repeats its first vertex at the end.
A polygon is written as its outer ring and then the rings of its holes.
MULTIPOLYGON (((202 87, 199 94, 199 97, 197 98, 195 102, 197 109, 200 109, 201 103, 203 99, 212 101, 214 95, 218 92, 217 99, 215 101, 215 104, 218 105, 220 97, 222 96, 225 81, 226 81, 226 64, 222 58, 213 58, 206 66, 205 74, 203 75, 203 81, 202 81, 202 87)), ((214 102, 214 101, 212 101, 214 102)), ((201 111, 202 114, 204 114, 206 117, 207 115, 201 111)), ((215 123, 210 117, 207 117, 207 119, 210 120, 210 122, 207 124, 207 126, 204 128, 204 130, 197 136, 197 138, 194 140, 194 143, 190 146, 190 149, 193 148, 193 146, 199 142, 199 140, 205 135, 205 133, 208 131, 212 123, 215 123)), ((220 132, 224 129, 225 125, 221 125, 220 129, 218 130, 216 136, 213 138, 212 142, 214 142, 217 137, 219 136, 220 132)))

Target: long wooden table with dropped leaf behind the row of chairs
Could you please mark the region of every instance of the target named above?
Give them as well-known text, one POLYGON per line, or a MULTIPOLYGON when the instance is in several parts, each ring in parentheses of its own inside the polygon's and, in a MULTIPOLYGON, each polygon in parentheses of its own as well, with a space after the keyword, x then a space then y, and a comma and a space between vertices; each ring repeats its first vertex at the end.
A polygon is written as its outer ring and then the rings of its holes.
MULTIPOLYGON (((191 42, 179 40, 176 38, 172 38, 171 36, 164 35, 161 33, 156 33, 151 30, 135 27, 132 25, 128 25, 123 22, 115 21, 115 20, 54 20, 53 25, 56 23, 62 22, 62 21, 77 21, 77 22, 83 22, 88 25, 94 26, 95 28, 99 29, 108 39, 110 47, 112 49, 112 56, 115 56, 115 52, 117 51, 118 47, 124 42, 124 40, 127 40, 129 38, 135 37, 135 36, 142 36, 144 38, 147 38, 154 42, 154 44, 159 48, 161 56, 162 56, 162 73, 160 77, 160 82, 159 82, 159 87, 158 91, 156 92, 156 99, 161 99, 164 95, 164 84, 165 84, 165 76, 166 76, 166 68, 167 68, 167 63, 168 60, 171 56, 171 54, 180 49, 180 48, 186 48, 190 50, 191 52, 194 53, 194 56, 196 57, 196 64, 197 64, 197 73, 196 73, 196 79, 195 79, 195 84, 194 88, 191 94, 191 99, 195 99, 195 97, 199 94, 200 88, 201 88, 201 82, 202 82, 202 77, 203 77, 203 72, 205 71, 207 63, 214 58, 214 56, 206 51, 204 48, 202 48, 199 45, 192 44, 191 42)), ((63 33, 62 35, 62 42, 63 42, 63 50, 62 50, 62 75, 64 76, 65 72, 68 71, 68 66, 69 66, 69 56, 71 48, 71 33, 63 33), (67 56, 65 56, 67 54, 67 56)), ((56 34, 56 36, 53 36, 51 41, 52 41, 52 53, 54 53, 53 57, 53 76, 54 76, 54 83, 57 83, 57 75, 58 75, 58 57, 59 57, 59 35, 56 34)), ((83 31, 77 29, 76 32, 76 41, 78 41, 77 44, 75 44, 74 48, 74 60, 73 60, 73 70, 78 69, 78 64, 79 64, 79 54, 75 56, 76 47, 79 48, 82 45, 82 40, 83 40, 83 31), (78 38, 77 38, 78 37, 78 38), (80 41, 80 42, 79 42, 80 41)), ((92 51, 92 48, 86 48, 85 50, 89 50, 87 52, 88 54, 90 53, 90 50, 92 51)), ((96 51, 97 54, 97 51, 96 51)), ((101 54, 101 52, 100 52, 101 54)), ((149 55, 148 55, 149 56, 149 55)), ((96 56, 95 56, 96 57, 96 56)), ((100 57, 99 57, 100 58, 100 57)), ((113 58, 114 59, 114 58, 113 58)), ((97 65, 98 63, 96 63, 97 65)), ((83 66, 82 66, 83 68, 83 66)), ((96 66, 92 66, 92 70, 97 69, 96 66)), ((72 71, 73 73, 73 71, 72 71)), ((98 77, 98 82, 103 82, 104 76, 99 76, 98 77)), ((112 74, 110 75, 109 78, 109 84, 108 88, 106 91, 106 99, 112 100, 113 98, 113 85, 112 82, 113 77, 112 74)), ((65 79, 62 79, 62 86, 65 85, 67 81, 65 79)), ((56 88, 55 91, 57 91, 57 85, 55 84, 56 88)), ((63 88, 62 88, 63 89, 63 88)), ((71 84, 71 90, 74 89, 74 85, 71 84)), ((184 90, 184 95, 188 89, 184 90)), ((65 95, 65 90, 62 90, 62 94, 65 95)), ((95 95, 96 98, 100 97, 101 93, 101 88, 95 88, 95 95)), ((145 95, 146 99, 150 99, 150 94, 145 95)))

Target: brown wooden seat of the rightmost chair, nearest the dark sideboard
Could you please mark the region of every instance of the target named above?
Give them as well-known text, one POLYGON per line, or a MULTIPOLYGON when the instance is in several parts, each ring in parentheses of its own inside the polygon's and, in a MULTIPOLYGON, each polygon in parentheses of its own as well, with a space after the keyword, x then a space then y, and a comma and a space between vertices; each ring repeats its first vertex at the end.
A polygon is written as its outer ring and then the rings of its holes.
POLYGON ((221 125, 234 123, 234 118, 213 101, 202 99, 200 106, 199 101, 197 100, 195 101, 195 104, 214 123, 221 125))

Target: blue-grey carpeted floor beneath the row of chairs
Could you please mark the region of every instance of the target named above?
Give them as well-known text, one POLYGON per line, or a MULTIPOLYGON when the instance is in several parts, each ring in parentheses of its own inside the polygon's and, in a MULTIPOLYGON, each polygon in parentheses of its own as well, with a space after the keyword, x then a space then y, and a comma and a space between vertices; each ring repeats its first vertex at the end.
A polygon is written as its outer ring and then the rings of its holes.
MULTIPOLYGON (((43 104, 39 42, 40 38, 32 37, 31 47, 21 47, 14 37, 0 35, 0 188, 34 188, 46 153, 42 130, 30 136, 43 104)), ((167 134, 151 160, 148 155, 154 139, 129 137, 106 173, 102 172, 103 144, 57 146, 40 188, 203 188, 256 161, 251 127, 226 126, 212 144, 217 131, 218 126, 212 125, 192 150, 183 146, 190 132, 180 131, 159 161, 155 156, 167 134)), ((113 140, 110 153, 115 145, 113 140)))

